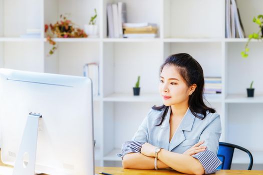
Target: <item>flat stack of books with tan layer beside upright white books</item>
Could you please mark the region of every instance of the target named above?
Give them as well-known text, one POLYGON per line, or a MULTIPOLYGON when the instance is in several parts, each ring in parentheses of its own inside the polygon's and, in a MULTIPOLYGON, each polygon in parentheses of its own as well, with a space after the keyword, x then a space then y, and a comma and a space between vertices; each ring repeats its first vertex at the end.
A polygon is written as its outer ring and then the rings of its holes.
POLYGON ((157 25, 154 23, 123 23, 123 37, 128 38, 154 38, 157 35, 157 25))

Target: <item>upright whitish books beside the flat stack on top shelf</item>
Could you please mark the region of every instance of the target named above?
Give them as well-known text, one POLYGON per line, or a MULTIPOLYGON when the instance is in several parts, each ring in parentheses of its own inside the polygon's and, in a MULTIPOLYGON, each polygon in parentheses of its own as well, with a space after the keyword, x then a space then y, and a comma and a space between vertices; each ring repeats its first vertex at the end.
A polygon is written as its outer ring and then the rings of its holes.
POLYGON ((126 3, 107 4, 107 34, 108 37, 123 37, 122 24, 126 22, 126 3))

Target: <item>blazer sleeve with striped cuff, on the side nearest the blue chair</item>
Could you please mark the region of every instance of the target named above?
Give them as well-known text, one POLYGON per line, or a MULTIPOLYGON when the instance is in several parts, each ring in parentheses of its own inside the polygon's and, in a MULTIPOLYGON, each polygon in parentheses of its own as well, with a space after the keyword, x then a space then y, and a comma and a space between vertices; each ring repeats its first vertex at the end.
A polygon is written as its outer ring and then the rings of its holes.
POLYGON ((206 174, 215 172, 216 168, 222 163, 216 156, 221 135, 220 115, 214 113, 210 116, 209 120, 209 124, 200 135, 200 141, 204 140, 201 146, 207 146, 207 148, 202 152, 192 155, 200 161, 206 174))

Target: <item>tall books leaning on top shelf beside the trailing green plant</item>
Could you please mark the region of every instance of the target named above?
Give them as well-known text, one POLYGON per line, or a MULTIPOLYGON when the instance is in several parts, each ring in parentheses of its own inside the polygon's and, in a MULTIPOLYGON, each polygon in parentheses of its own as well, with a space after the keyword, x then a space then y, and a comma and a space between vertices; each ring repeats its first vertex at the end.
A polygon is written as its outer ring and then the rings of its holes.
POLYGON ((235 0, 226 0, 225 37, 244 38, 245 32, 235 0))

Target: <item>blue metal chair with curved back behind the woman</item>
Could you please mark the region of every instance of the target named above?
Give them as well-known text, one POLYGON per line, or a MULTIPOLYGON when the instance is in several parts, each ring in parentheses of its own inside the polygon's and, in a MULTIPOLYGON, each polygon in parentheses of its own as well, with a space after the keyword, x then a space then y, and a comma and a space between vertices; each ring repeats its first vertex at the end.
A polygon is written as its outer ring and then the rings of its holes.
POLYGON ((247 169, 251 170, 253 165, 253 156, 251 152, 241 146, 225 142, 219 142, 217 157, 222 161, 222 164, 216 169, 230 169, 235 148, 240 149, 248 154, 250 162, 247 169))

